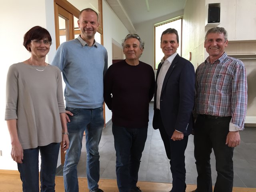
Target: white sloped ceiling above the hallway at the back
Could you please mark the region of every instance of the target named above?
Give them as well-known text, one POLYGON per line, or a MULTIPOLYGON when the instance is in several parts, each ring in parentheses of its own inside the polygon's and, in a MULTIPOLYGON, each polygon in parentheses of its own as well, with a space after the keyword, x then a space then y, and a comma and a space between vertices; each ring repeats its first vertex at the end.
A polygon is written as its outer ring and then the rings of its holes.
POLYGON ((186 0, 106 0, 130 32, 134 25, 184 9, 186 0))

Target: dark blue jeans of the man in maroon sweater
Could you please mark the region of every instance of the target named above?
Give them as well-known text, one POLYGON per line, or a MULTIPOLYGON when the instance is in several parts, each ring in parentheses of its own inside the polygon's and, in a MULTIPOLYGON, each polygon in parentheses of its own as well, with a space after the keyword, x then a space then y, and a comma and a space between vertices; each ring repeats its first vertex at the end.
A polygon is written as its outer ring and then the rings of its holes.
POLYGON ((112 125, 116 149, 116 178, 119 192, 136 187, 140 158, 147 139, 148 128, 125 128, 112 125))

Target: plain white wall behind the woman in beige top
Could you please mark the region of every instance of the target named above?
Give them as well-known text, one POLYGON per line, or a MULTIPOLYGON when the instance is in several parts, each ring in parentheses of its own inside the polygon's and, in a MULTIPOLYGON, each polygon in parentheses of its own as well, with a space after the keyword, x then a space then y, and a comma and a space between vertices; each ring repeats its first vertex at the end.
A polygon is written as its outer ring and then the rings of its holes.
MULTIPOLYGON (((11 143, 8 128, 4 120, 6 74, 10 65, 24 61, 30 53, 23 46, 24 34, 33 26, 39 25, 47 28, 55 40, 53 0, 1 0, 0 6, 0 169, 17 170, 17 164, 10 156, 11 143), (47 8, 46 8, 47 7, 47 8)), ((54 56, 55 47, 52 46, 46 62, 54 56)))

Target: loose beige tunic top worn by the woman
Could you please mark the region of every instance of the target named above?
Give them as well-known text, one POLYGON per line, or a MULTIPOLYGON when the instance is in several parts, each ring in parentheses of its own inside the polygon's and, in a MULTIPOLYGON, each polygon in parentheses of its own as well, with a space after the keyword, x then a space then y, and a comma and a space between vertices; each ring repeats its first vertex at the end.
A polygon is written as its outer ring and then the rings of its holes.
POLYGON ((24 63, 10 66, 5 120, 17 119, 18 138, 23 149, 61 142, 60 113, 64 112, 62 78, 57 67, 24 63))

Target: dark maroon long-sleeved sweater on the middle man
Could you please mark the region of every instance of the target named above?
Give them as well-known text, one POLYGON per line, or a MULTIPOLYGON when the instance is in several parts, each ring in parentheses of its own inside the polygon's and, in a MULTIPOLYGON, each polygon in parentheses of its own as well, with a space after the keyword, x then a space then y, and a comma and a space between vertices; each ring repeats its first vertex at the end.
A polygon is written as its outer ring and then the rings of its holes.
POLYGON ((112 110, 113 124, 126 128, 147 127, 154 85, 154 70, 150 65, 140 61, 131 66, 125 60, 112 64, 104 78, 104 101, 112 110))

